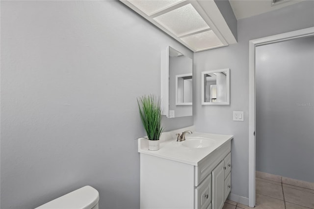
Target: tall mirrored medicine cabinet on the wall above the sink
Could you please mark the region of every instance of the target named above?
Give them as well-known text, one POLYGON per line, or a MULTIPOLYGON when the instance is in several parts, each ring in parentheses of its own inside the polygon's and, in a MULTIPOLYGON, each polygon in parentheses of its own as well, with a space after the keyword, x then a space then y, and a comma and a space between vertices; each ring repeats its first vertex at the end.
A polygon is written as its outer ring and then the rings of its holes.
POLYGON ((192 116, 192 59, 167 47, 161 62, 161 105, 168 118, 192 116))

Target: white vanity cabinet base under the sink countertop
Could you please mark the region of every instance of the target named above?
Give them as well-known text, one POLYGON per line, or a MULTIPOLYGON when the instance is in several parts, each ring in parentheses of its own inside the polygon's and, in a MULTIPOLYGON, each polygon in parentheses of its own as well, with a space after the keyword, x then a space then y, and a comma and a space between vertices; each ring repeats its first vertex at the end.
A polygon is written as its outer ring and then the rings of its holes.
POLYGON ((221 209, 230 190, 231 141, 199 166, 140 154, 141 209, 221 209))

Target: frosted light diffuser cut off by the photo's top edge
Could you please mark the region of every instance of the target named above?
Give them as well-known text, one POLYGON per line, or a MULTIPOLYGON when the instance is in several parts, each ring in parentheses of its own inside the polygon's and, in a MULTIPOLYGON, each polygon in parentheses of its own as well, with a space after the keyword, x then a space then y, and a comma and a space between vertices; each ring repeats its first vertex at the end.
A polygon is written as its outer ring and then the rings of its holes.
POLYGON ((151 16, 183 0, 129 0, 146 15, 151 16))

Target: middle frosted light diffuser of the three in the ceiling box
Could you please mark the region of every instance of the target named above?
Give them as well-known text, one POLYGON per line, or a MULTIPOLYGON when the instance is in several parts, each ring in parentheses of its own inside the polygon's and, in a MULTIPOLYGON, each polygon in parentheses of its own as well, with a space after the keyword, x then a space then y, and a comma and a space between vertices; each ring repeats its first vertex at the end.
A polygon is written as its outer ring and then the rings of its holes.
POLYGON ((209 29, 207 23, 190 3, 153 19, 178 37, 209 29))

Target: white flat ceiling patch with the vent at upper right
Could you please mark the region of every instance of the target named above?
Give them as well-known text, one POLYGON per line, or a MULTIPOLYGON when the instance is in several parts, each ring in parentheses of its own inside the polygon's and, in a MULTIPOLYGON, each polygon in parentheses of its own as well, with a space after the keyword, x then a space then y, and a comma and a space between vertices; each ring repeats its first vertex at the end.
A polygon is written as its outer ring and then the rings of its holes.
POLYGON ((237 20, 270 12, 301 1, 303 0, 285 0, 283 3, 271 6, 271 0, 229 0, 237 20))

